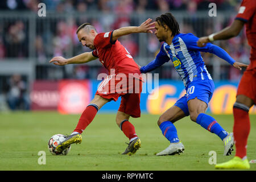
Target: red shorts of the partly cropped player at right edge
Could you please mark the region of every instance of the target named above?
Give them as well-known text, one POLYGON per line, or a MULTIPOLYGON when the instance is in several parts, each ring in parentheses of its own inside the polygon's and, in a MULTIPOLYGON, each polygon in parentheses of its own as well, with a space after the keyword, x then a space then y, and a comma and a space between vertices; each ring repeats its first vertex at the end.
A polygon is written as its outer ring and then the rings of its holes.
POLYGON ((246 69, 238 85, 237 96, 244 95, 256 104, 256 69, 246 69))

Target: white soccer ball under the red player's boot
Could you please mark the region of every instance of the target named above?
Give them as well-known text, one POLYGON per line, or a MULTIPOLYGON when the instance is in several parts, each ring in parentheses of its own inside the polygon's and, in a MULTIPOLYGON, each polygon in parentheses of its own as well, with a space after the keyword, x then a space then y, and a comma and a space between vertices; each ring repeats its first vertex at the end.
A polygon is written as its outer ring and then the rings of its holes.
POLYGON ((48 142, 48 148, 52 155, 67 155, 69 150, 71 149, 71 146, 68 146, 63 151, 57 151, 56 147, 65 140, 65 135, 62 134, 56 134, 53 135, 48 142))

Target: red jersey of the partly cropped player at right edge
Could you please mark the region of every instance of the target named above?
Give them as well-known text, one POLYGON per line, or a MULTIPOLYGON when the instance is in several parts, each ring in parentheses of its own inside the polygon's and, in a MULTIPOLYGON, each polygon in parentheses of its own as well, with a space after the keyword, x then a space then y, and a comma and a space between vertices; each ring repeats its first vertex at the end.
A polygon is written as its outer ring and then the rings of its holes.
POLYGON ((243 0, 236 16, 246 24, 246 36, 251 46, 251 64, 249 68, 256 68, 256 1, 243 0))

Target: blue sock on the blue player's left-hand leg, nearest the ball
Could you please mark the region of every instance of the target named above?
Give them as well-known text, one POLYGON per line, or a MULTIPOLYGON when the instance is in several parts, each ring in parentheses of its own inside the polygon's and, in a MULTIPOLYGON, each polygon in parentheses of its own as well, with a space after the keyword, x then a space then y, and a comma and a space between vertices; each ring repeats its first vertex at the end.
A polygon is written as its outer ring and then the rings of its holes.
POLYGON ((179 142, 176 127, 171 121, 164 121, 159 127, 162 130, 164 137, 166 137, 170 141, 170 143, 179 142))

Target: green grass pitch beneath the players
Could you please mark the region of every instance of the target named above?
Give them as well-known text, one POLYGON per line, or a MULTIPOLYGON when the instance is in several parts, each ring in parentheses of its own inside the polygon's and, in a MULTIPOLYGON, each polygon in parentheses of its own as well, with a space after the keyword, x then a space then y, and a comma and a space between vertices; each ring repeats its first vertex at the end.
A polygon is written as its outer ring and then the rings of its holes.
MULTIPOLYGON (((232 115, 212 115, 227 131, 233 129, 232 115)), ((82 134, 82 143, 73 144, 67 156, 53 156, 47 148, 54 134, 70 134, 80 115, 55 112, 0 113, 0 170, 215 170, 209 164, 210 151, 217 163, 234 156, 223 156, 224 144, 216 135, 192 122, 189 117, 175 123, 184 154, 155 156, 169 143, 156 122, 159 115, 142 114, 131 118, 142 147, 135 155, 121 155, 128 139, 115 123, 115 114, 98 114, 82 134), (39 151, 46 152, 46 164, 39 165, 39 151)), ((248 159, 256 159, 256 115, 250 115, 251 132, 247 143, 248 159)), ((250 170, 255 170, 251 164, 250 170)))

